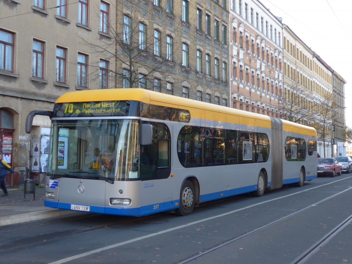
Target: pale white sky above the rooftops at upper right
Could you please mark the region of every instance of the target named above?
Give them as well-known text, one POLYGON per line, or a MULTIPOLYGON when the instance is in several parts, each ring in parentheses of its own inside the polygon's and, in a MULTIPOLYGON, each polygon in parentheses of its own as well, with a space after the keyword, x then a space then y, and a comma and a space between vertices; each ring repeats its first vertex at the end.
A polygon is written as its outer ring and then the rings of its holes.
POLYGON ((259 1, 345 79, 346 125, 352 127, 352 1, 259 1))

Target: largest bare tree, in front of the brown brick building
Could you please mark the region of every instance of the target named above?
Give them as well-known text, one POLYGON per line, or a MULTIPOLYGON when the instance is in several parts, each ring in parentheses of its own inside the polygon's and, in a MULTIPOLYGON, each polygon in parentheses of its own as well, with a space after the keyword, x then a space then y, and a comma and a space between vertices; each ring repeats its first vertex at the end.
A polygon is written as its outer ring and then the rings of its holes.
MULTIPOLYGON (((115 65, 107 69, 111 83, 108 88, 138 88, 141 86, 145 88, 143 86, 149 83, 148 88, 158 90, 160 84, 155 82, 154 77, 157 76, 158 80, 167 81, 168 78, 162 76, 168 75, 168 66, 172 65, 172 56, 180 47, 172 43, 172 46, 168 45, 163 52, 161 44, 165 44, 170 36, 166 34, 162 36, 161 32, 153 27, 147 27, 150 18, 148 18, 147 8, 143 5, 150 3, 140 4, 130 0, 125 2, 131 7, 127 15, 121 5, 117 8, 111 6, 111 10, 117 12, 115 14, 117 19, 114 19, 116 24, 107 24, 100 20, 99 30, 101 31, 101 27, 104 26, 107 34, 100 32, 99 38, 94 40, 84 36, 79 37, 82 44, 88 46, 93 53, 106 61, 114 62, 115 65)), ((97 10, 100 12, 100 8, 97 7, 97 10)), ((101 19, 99 13, 97 17, 101 19)), ((89 76, 89 80, 101 78, 99 62, 92 62, 89 66, 95 69, 89 76)))

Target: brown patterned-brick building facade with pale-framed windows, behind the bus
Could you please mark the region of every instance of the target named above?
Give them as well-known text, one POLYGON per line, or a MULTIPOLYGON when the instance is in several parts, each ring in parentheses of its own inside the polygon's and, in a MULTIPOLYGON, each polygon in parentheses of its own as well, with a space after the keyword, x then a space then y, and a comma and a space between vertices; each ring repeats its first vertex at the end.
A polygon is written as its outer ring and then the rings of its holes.
POLYGON ((226 0, 120 2, 117 87, 139 87, 228 106, 226 0), (126 32, 128 32, 126 34, 126 32), (125 44, 130 43, 130 51, 125 44), (133 44, 134 43, 134 44, 133 44), (129 61, 130 55, 137 58, 129 61), (134 81, 133 81, 134 80, 134 81), (137 82, 138 80, 138 82, 137 82))

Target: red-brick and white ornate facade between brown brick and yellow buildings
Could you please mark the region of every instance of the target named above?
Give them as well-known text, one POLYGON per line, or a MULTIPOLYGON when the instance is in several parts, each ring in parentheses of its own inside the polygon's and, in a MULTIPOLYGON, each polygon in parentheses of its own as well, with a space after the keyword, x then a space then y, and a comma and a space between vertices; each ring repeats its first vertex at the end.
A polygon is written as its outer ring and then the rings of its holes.
POLYGON ((280 118, 281 19, 259 1, 233 0, 230 23, 231 107, 280 118))

